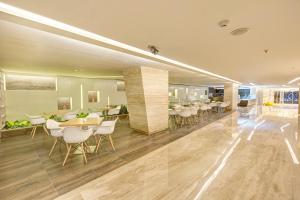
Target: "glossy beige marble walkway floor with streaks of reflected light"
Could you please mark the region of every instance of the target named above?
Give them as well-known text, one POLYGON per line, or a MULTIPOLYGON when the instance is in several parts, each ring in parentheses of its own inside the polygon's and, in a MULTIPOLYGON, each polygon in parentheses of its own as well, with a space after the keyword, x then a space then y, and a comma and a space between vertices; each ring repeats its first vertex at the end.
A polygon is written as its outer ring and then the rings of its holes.
POLYGON ((235 112, 57 199, 300 199, 297 116, 235 112))

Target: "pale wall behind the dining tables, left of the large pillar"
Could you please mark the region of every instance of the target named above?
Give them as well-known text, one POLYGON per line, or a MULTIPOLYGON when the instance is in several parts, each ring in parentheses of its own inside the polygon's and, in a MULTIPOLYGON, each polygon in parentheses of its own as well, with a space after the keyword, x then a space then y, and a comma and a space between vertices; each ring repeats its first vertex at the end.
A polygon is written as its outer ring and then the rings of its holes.
POLYGON ((80 85, 83 86, 83 111, 88 108, 99 109, 110 104, 127 104, 125 91, 117 91, 116 80, 88 79, 75 77, 58 77, 57 91, 41 90, 7 90, 7 120, 26 119, 25 114, 38 115, 57 111, 58 97, 72 97, 73 110, 80 109, 80 85), (99 103, 88 103, 88 91, 100 91, 99 103))

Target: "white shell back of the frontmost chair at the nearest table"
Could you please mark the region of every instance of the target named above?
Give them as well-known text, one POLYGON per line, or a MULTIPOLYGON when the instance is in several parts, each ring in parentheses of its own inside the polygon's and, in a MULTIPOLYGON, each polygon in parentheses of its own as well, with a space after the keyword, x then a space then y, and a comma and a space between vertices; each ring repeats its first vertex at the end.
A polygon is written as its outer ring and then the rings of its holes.
POLYGON ((80 143, 87 140, 92 134, 92 129, 83 130, 79 127, 66 127, 63 137, 66 143, 80 143))

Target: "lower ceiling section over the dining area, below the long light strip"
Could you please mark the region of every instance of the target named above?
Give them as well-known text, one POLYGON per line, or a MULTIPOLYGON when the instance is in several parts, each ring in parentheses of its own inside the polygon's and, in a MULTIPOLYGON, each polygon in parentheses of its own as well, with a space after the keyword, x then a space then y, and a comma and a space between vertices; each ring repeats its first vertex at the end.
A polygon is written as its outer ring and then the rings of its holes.
POLYGON ((177 84, 220 84, 224 80, 98 45, 0 20, 0 66, 7 72, 122 79, 129 67, 169 71, 177 84))

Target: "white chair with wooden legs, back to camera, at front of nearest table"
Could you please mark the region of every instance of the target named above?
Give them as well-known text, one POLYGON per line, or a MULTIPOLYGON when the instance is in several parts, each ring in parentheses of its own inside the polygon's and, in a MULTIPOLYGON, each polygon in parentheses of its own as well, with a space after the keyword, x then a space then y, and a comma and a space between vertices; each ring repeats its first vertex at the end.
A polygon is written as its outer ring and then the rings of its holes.
POLYGON ((64 133, 63 133, 63 138, 64 141, 67 144, 67 154, 63 162, 63 166, 65 166, 66 161, 69 157, 70 151, 73 147, 73 149, 78 149, 79 147, 81 148, 82 155, 84 158, 84 163, 87 163, 86 159, 86 149, 87 149, 87 144, 86 140, 93 134, 92 129, 87 129, 83 130, 79 127, 66 127, 64 128, 64 133))

